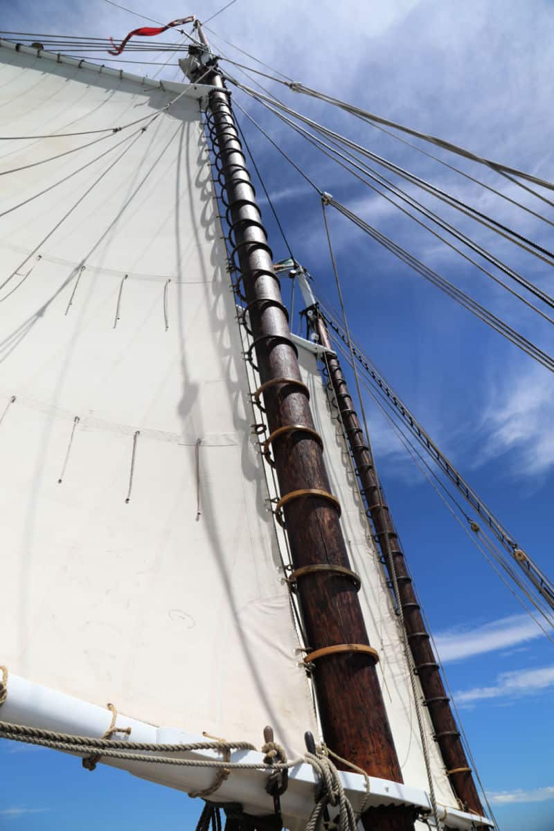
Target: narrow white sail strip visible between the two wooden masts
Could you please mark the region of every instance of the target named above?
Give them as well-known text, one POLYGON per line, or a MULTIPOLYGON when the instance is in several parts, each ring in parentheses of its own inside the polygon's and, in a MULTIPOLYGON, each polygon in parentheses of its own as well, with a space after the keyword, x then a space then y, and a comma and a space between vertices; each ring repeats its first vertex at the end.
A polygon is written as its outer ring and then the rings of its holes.
MULTIPOLYGON (((395 615, 375 543, 370 535, 351 458, 340 422, 336 418, 338 411, 335 408, 331 409, 331 402, 321 382, 316 357, 305 350, 301 351, 301 357, 305 381, 310 388, 316 430, 321 433, 325 444, 326 468, 331 481, 331 491, 341 501, 342 528, 351 567, 361 578, 359 597, 365 626, 370 643, 380 656, 377 671, 404 782, 428 789, 429 778, 409 678, 409 664, 402 646, 400 624, 395 615)), ((424 696, 417 679, 416 683, 421 701, 424 696)), ((429 712, 424 707, 422 711, 425 744, 429 750, 437 800, 439 804, 456 806, 457 799, 450 787, 439 747, 433 739, 434 730, 429 712)))

